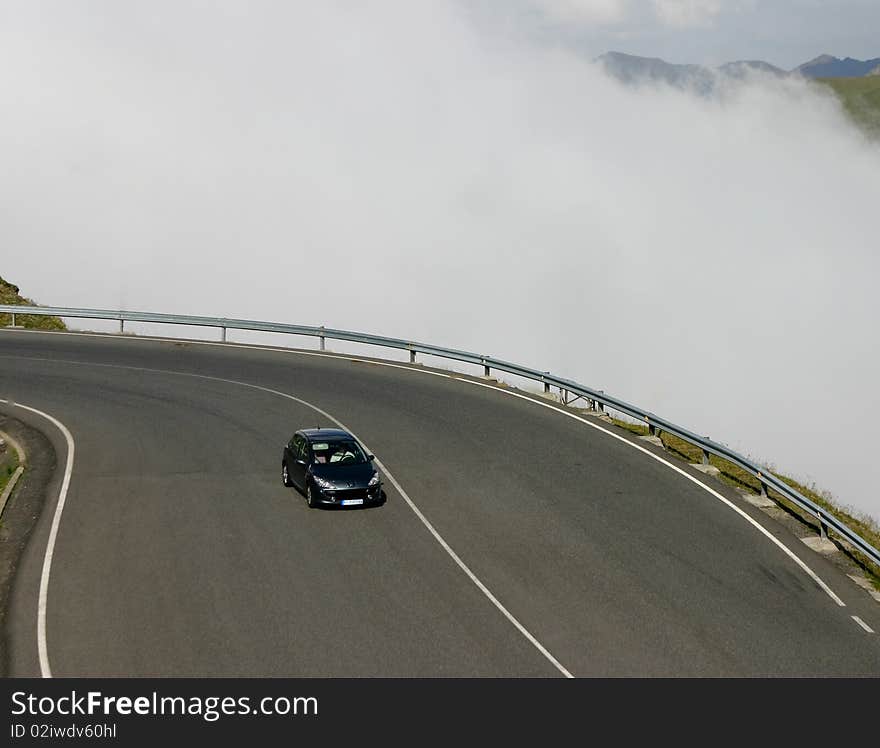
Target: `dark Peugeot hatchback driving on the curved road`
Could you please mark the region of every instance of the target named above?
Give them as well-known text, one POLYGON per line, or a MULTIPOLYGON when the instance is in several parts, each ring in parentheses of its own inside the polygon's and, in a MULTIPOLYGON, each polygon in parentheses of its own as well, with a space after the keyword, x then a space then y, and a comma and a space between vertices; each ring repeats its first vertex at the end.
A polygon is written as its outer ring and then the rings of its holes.
POLYGON ((347 431, 302 429, 284 447, 281 480, 302 491, 310 507, 381 504, 374 459, 347 431))

